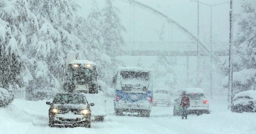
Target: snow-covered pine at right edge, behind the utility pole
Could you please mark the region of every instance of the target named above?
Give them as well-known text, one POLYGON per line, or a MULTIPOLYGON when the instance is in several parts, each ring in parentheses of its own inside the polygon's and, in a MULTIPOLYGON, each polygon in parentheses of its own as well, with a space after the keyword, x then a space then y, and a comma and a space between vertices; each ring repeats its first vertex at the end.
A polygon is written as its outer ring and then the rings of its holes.
MULTIPOLYGON (((248 1, 242 2, 238 33, 234 41, 233 95, 255 89, 256 69, 256 11, 248 1)), ((228 87, 227 77, 222 81, 228 87)))

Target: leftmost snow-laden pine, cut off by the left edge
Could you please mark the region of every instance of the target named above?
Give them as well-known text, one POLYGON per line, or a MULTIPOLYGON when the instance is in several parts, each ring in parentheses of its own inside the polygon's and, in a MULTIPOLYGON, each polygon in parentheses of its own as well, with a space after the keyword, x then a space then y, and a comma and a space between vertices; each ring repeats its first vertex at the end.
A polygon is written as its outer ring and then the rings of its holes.
POLYGON ((3 87, 17 91, 31 79, 24 55, 31 33, 38 29, 35 16, 28 10, 26 0, 0 2, 1 28, 1 77, 3 87))

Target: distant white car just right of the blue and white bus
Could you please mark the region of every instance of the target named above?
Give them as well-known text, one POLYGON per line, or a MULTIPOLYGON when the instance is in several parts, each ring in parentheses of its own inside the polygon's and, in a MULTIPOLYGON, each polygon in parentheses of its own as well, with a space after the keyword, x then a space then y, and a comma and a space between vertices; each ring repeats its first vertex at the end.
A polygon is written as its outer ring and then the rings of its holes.
POLYGON ((171 106, 171 95, 166 89, 154 89, 153 93, 153 106, 165 105, 171 106))

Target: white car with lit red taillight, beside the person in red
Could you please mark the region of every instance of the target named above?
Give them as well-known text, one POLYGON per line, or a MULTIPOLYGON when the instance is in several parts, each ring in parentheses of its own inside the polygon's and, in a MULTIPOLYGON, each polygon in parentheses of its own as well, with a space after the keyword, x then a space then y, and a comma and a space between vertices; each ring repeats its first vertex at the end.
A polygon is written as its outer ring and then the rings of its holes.
MULTIPOLYGON (((182 91, 186 92, 190 99, 190 107, 188 107, 188 114, 209 114, 210 106, 209 101, 205 97, 203 89, 200 88, 188 88, 182 91)), ((173 115, 181 115, 180 102, 182 98, 182 91, 180 91, 180 96, 178 99, 175 99, 173 115)))

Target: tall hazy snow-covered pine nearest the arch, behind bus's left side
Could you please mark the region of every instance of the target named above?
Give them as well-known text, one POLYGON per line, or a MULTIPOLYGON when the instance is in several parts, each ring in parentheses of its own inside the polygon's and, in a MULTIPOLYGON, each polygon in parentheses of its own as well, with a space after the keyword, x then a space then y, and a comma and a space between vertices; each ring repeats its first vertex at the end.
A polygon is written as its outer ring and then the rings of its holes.
POLYGON ((102 78, 110 85, 114 71, 119 61, 115 59, 117 53, 120 53, 122 46, 124 46, 124 39, 122 32, 125 31, 122 26, 120 18, 118 17, 118 8, 113 5, 114 0, 106 0, 106 6, 102 9, 102 16, 104 18, 102 37, 104 39, 103 49, 106 54, 102 55, 101 64, 99 66, 102 71, 102 78), (105 56, 104 56, 105 55, 105 56))

